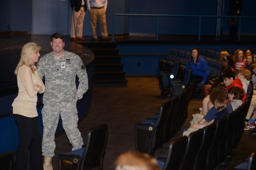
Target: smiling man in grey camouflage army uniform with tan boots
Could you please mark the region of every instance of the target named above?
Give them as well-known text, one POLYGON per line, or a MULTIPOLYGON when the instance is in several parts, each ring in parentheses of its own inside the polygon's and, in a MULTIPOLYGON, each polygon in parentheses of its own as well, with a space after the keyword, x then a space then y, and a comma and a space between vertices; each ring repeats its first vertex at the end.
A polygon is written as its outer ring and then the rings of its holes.
POLYGON ((64 36, 60 33, 52 35, 53 51, 44 55, 38 62, 38 72, 45 77, 45 92, 43 96, 43 156, 44 170, 52 169, 52 157, 56 144, 54 135, 59 122, 72 144, 72 150, 77 150, 84 144, 78 130, 77 100, 88 90, 88 77, 81 58, 71 52, 64 51, 64 36), (75 84, 78 76, 79 85, 75 84))

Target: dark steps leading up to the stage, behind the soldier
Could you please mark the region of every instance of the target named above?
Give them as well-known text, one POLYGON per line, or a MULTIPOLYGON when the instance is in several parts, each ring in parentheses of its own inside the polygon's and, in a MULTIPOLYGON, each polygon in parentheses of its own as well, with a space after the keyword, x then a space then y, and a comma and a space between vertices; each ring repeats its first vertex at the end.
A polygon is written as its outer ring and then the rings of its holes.
POLYGON ((94 87, 127 87, 116 42, 82 42, 94 54, 94 87))

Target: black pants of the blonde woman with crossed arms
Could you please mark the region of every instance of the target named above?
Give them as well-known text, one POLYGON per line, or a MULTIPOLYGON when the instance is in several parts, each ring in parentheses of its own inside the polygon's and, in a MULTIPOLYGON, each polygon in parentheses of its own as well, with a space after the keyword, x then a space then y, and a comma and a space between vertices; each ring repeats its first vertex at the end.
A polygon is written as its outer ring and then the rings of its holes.
POLYGON ((38 116, 13 115, 19 131, 15 169, 27 170, 29 167, 30 170, 43 170, 42 135, 38 116))

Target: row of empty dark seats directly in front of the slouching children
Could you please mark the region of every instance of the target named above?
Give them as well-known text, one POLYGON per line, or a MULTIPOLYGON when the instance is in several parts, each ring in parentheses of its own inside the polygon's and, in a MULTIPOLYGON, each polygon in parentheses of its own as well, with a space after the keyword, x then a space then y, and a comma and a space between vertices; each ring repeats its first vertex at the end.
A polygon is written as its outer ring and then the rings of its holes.
POLYGON ((188 116, 188 105, 193 94, 193 84, 177 97, 164 102, 158 112, 135 124, 137 152, 154 155, 157 149, 177 134, 188 116))

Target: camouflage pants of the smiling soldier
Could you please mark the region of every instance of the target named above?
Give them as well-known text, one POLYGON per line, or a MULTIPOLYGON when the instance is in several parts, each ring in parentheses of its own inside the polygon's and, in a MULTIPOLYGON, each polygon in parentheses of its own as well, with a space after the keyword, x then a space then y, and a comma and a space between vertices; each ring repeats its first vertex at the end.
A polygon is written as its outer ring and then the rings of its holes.
POLYGON ((72 150, 77 150, 84 145, 81 133, 78 130, 77 101, 51 102, 44 104, 41 111, 43 116, 43 156, 53 157, 56 144, 54 142, 59 116, 63 121, 63 128, 72 145, 72 150))

